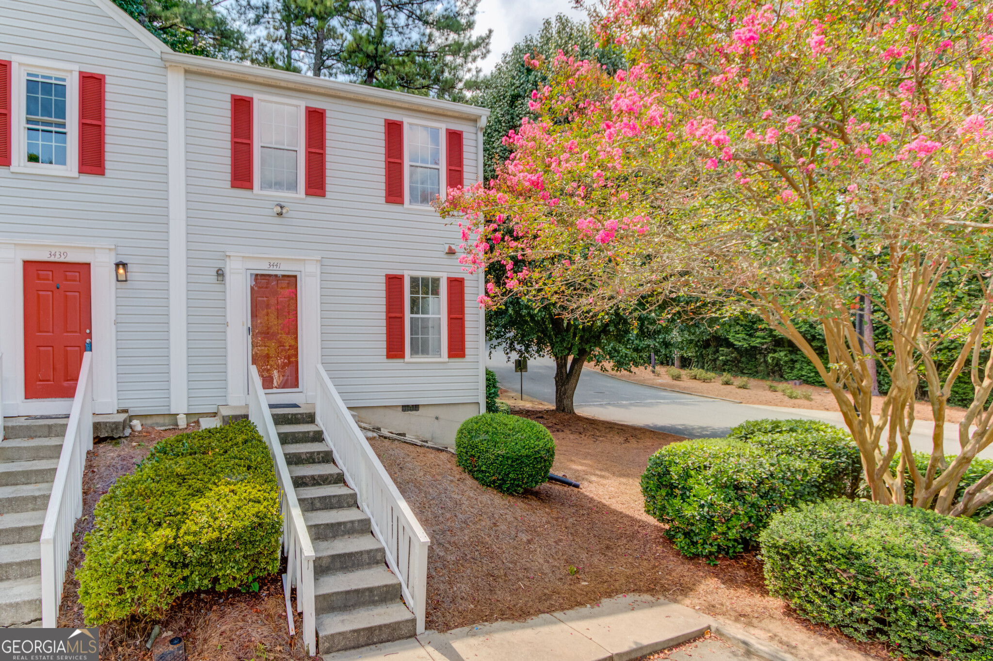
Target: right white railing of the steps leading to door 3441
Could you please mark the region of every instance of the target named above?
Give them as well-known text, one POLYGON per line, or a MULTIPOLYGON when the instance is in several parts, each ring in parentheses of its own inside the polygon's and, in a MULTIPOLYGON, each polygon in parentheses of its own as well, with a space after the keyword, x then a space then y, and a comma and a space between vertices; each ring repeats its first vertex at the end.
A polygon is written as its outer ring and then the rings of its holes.
POLYGON ((400 580, 403 598, 417 616, 417 633, 424 633, 431 540, 372 452, 320 363, 317 377, 315 413, 318 426, 324 430, 324 441, 355 489, 359 509, 372 520, 372 534, 386 549, 386 564, 400 580))

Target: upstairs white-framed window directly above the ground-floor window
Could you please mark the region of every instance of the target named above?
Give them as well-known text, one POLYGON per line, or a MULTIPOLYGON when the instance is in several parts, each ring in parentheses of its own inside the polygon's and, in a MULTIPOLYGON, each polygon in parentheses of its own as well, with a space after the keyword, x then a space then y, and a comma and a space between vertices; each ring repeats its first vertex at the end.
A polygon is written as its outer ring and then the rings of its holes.
POLYGON ((445 197, 445 126, 404 121, 404 199, 409 206, 430 206, 445 197))

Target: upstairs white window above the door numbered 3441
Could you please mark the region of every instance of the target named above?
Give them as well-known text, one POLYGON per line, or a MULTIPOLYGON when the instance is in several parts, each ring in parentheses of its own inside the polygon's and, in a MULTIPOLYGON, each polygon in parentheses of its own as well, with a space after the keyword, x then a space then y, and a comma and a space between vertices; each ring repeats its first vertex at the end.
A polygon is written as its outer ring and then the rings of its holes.
POLYGON ((300 107, 259 101, 259 190, 298 193, 300 107))

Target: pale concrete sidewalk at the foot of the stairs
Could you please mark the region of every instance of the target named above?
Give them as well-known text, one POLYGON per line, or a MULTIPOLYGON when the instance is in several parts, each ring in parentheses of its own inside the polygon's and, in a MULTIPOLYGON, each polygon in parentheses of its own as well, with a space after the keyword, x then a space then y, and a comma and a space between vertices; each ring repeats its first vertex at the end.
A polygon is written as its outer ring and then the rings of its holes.
POLYGON ((604 599, 585 608, 542 614, 523 622, 495 622, 427 631, 383 645, 337 652, 325 661, 630 661, 701 636, 718 633, 749 658, 793 657, 686 606, 652 596, 604 599))

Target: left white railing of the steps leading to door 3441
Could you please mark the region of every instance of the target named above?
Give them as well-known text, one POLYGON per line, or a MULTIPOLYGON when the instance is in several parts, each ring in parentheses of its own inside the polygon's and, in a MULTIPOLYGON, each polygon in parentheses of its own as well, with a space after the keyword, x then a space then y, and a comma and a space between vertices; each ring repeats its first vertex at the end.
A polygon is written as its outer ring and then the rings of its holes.
POLYGON ((317 651, 316 614, 314 609, 314 545, 307 534, 304 513, 297 502, 293 488, 293 478, 286 466, 286 458, 279 443, 276 425, 272 422, 272 412, 262 391, 262 380, 255 365, 249 368, 248 380, 248 419, 269 446, 269 454, 276 466, 276 481, 279 482, 280 510, 283 514, 283 555, 286 557, 287 585, 297 587, 297 612, 304 620, 303 640, 307 655, 317 651))

